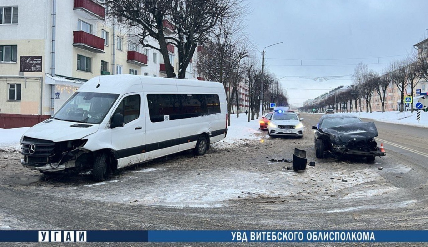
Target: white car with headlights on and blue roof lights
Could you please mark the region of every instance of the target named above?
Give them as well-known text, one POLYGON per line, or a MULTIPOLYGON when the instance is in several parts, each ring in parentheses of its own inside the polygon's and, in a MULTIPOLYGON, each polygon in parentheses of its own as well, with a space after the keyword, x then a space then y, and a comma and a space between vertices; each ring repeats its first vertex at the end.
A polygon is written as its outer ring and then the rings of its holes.
POLYGON ((276 136, 297 136, 303 137, 303 124, 296 113, 273 112, 268 124, 268 134, 270 137, 276 136))

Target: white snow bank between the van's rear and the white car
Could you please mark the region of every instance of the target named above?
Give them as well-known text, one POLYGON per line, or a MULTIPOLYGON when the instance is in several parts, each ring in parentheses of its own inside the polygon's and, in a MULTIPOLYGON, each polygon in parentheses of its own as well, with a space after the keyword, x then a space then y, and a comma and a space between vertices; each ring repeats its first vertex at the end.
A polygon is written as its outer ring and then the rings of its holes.
POLYGON ((259 140, 260 136, 256 135, 259 133, 259 119, 250 120, 248 122, 248 115, 245 116, 245 113, 240 113, 239 117, 236 117, 236 114, 230 116, 230 126, 227 127, 226 138, 213 143, 211 147, 217 149, 228 149, 230 147, 236 147, 244 145, 250 140, 259 140))

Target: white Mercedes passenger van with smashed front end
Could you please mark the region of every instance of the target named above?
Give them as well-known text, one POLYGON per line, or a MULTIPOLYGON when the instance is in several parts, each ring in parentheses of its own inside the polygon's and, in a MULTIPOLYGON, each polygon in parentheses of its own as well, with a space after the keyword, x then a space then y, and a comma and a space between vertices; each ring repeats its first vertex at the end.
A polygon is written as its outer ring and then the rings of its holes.
POLYGON ((138 75, 92 78, 21 137, 21 164, 42 173, 112 170, 193 149, 227 134, 221 83, 138 75))

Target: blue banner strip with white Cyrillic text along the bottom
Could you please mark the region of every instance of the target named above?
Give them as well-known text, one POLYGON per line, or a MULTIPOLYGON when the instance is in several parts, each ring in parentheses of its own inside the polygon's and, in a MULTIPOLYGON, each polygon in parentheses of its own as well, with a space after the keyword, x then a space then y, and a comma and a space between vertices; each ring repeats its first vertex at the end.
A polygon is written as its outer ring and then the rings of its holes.
POLYGON ((0 242, 428 242, 428 230, 0 231, 0 242))

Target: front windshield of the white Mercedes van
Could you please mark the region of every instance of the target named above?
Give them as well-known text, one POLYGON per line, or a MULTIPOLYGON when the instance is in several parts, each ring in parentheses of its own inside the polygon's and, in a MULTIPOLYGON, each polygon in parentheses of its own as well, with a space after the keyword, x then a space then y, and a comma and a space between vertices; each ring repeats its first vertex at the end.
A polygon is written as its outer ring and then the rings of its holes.
POLYGON ((69 122, 101 123, 119 94, 75 92, 52 116, 69 122))

